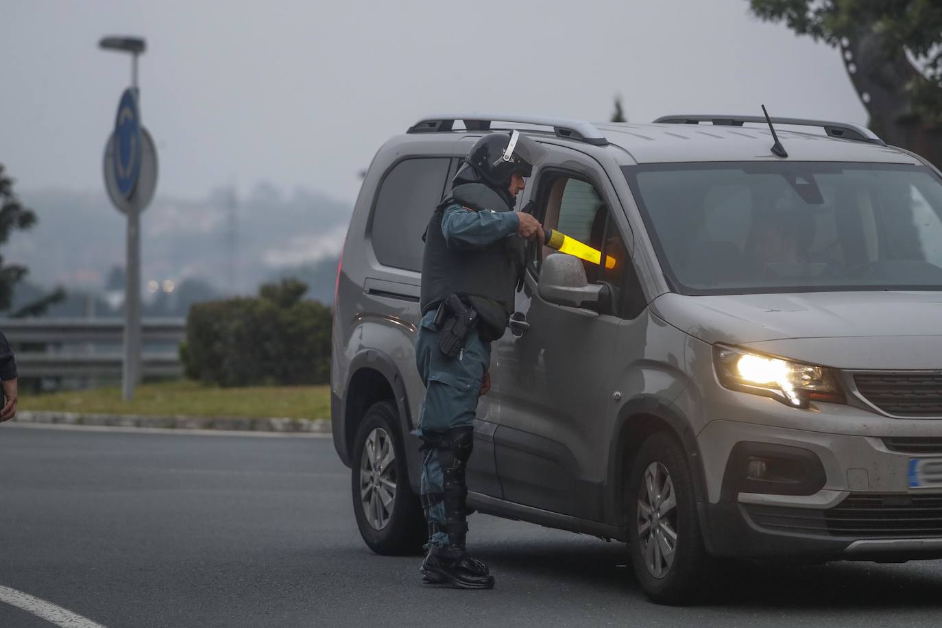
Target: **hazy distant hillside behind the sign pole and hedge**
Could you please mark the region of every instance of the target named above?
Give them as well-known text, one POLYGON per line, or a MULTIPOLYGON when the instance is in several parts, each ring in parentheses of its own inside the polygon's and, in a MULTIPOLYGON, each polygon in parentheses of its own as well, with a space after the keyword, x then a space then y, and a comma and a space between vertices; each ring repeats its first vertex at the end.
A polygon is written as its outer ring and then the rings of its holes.
MULTIPOLYGON (((125 222, 104 192, 24 190, 39 224, 0 252, 30 270, 28 281, 99 293, 124 263, 125 222)), ((254 294, 261 282, 306 272, 313 298, 333 298, 333 272, 350 207, 315 192, 257 185, 235 203, 235 281, 229 282, 230 194, 202 201, 157 197, 142 217, 142 282, 202 280, 219 294, 254 294), (321 264, 323 262, 323 264, 321 264), (333 268, 333 270, 332 270, 333 268)), ((302 277, 302 279, 304 279, 302 277)), ((69 308, 72 310, 73 308, 69 308)))

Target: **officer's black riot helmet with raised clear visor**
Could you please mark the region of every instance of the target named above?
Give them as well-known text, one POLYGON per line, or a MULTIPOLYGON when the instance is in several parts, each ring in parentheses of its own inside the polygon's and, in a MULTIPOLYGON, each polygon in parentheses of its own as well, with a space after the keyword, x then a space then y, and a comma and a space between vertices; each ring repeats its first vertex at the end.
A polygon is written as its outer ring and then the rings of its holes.
POLYGON ((511 185, 511 175, 528 177, 533 167, 543 161, 547 149, 519 131, 507 135, 492 133, 481 137, 455 173, 454 184, 482 183, 496 190, 511 185))

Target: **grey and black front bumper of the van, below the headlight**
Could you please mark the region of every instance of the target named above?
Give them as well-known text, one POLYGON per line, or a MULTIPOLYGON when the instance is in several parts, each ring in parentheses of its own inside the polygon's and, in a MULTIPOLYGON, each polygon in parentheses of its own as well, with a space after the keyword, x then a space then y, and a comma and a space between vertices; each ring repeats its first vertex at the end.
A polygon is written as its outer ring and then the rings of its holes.
POLYGON ((710 499, 699 505, 715 556, 908 560, 942 557, 942 487, 913 489, 914 458, 882 438, 733 421, 707 425, 698 440, 710 499), (737 443, 771 443, 820 459, 824 482, 810 495, 739 490, 727 461, 737 443))

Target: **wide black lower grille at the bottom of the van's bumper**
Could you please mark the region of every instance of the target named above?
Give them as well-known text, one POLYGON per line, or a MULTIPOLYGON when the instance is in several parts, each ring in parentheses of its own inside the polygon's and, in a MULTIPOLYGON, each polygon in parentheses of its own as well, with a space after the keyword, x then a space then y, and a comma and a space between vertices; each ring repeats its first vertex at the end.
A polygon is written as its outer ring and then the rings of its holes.
POLYGON ((757 525, 853 539, 942 537, 942 494, 859 493, 827 510, 747 506, 757 525))

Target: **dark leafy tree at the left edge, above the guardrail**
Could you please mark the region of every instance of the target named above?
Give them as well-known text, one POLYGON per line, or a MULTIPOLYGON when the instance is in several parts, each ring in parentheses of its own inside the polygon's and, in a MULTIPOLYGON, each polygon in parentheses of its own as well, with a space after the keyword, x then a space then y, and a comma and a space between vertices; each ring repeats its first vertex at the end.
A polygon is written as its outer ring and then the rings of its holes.
MULTIPOLYGON (((0 164, 0 245, 5 244, 14 231, 31 229, 36 224, 36 220, 36 213, 24 207, 13 192, 13 179, 5 174, 5 169, 0 164)), ((25 266, 4 264, 3 256, 0 255, 0 312, 7 313, 13 318, 39 316, 44 314, 50 305, 65 298, 65 291, 57 288, 51 294, 9 313, 13 301, 13 290, 16 284, 24 279, 27 272, 25 266)))

